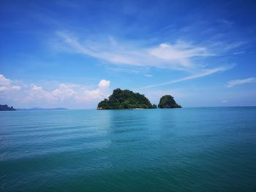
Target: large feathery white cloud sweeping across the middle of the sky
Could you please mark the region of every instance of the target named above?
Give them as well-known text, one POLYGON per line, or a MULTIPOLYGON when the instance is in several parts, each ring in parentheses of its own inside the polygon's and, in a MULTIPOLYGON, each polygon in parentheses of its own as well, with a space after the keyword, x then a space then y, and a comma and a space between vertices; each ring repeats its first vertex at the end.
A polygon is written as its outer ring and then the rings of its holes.
POLYGON ((64 31, 58 31, 57 35, 60 38, 59 44, 62 44, 60 46, 62 50, 63 47, 68 47, 75 53, 123 66, 149 66, 192 71, 202 67, 194 64, 192 59, 214 55, 208 51, 207 47, 182 41, 175 44, 165 42, 156 46, 141 47, 141 45, 132 45, 130 42, 118 43, 113 37, 108 37, 107 41, 102 42, 86 42, 64 31))

